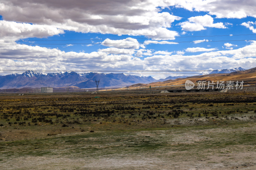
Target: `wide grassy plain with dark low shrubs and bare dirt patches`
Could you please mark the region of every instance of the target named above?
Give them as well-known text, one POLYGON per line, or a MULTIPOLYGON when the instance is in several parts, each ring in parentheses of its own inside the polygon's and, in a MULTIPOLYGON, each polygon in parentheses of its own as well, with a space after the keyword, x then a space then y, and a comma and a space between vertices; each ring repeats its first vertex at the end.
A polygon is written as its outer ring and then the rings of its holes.
POLYGON ((95 97, 1 97, 1 169, 256 168, 256 94, 95 97))

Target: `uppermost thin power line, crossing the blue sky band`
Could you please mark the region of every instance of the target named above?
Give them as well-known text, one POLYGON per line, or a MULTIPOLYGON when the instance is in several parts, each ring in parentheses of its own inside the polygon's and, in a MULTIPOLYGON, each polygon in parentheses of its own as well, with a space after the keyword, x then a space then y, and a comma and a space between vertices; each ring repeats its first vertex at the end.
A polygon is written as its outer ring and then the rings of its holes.
MULTIPOLYGON (((158 38, 195 38, 195 37, 223 37, 223 36, 245 36, 245 35, 256 35, 256 34, 230 34, 230 35, 204 35, 204 36, 182 36, 182 37, 149 37, 149 38, 126 38, 126 39, 158 39, 158 38)), ((123 40, 124 38, 108 38, 109 40, 123 40)), ((18 40, 19 42, 24 41, 85 41, 85 40, 106 40, 106 39, 70 39, 70 40, 18 40)), ((0 41, 0 42, 18 42, 18 41, 0 41)))

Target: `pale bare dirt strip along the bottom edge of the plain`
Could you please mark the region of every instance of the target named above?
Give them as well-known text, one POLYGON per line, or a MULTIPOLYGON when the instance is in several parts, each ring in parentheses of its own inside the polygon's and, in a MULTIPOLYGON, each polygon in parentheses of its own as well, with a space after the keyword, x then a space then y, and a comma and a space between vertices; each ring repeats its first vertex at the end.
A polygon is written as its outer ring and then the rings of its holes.
MULTIPOLYGON (((172 154, 179 153, 169 153, 172 154)), ((220 155, 208 155, 206 160, 182 161, 181 159, 162 160, 155 156, 124 156, 123 158, 54 158, 21 157, 1 164, 3 169, 255 169, 255 152, 239 152, 220 155), (250 158, 250 159, 249 159, 250 158), (249 159, 249 160, 248 160, 249 159), (232 162, 230 161, 232 160, 232 162)))

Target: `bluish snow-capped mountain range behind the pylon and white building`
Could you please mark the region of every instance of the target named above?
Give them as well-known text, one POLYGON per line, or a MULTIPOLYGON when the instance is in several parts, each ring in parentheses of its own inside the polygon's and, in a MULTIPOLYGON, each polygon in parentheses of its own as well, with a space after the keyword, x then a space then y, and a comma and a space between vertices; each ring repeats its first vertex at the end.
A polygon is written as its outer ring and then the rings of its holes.
POLYGON ((10 74, 0 76, 0 88, 23 88, 23 87, 65 87, 77 86, 79 88, 94 88, 95 80, 100 80, 100 88, 122 87, 136 83, 151 83, 156 79, 126 74, 104 74, 104 73, 83 73, 74 71, 59 73, 40 73, 28 70, 22 74, 10 74))

